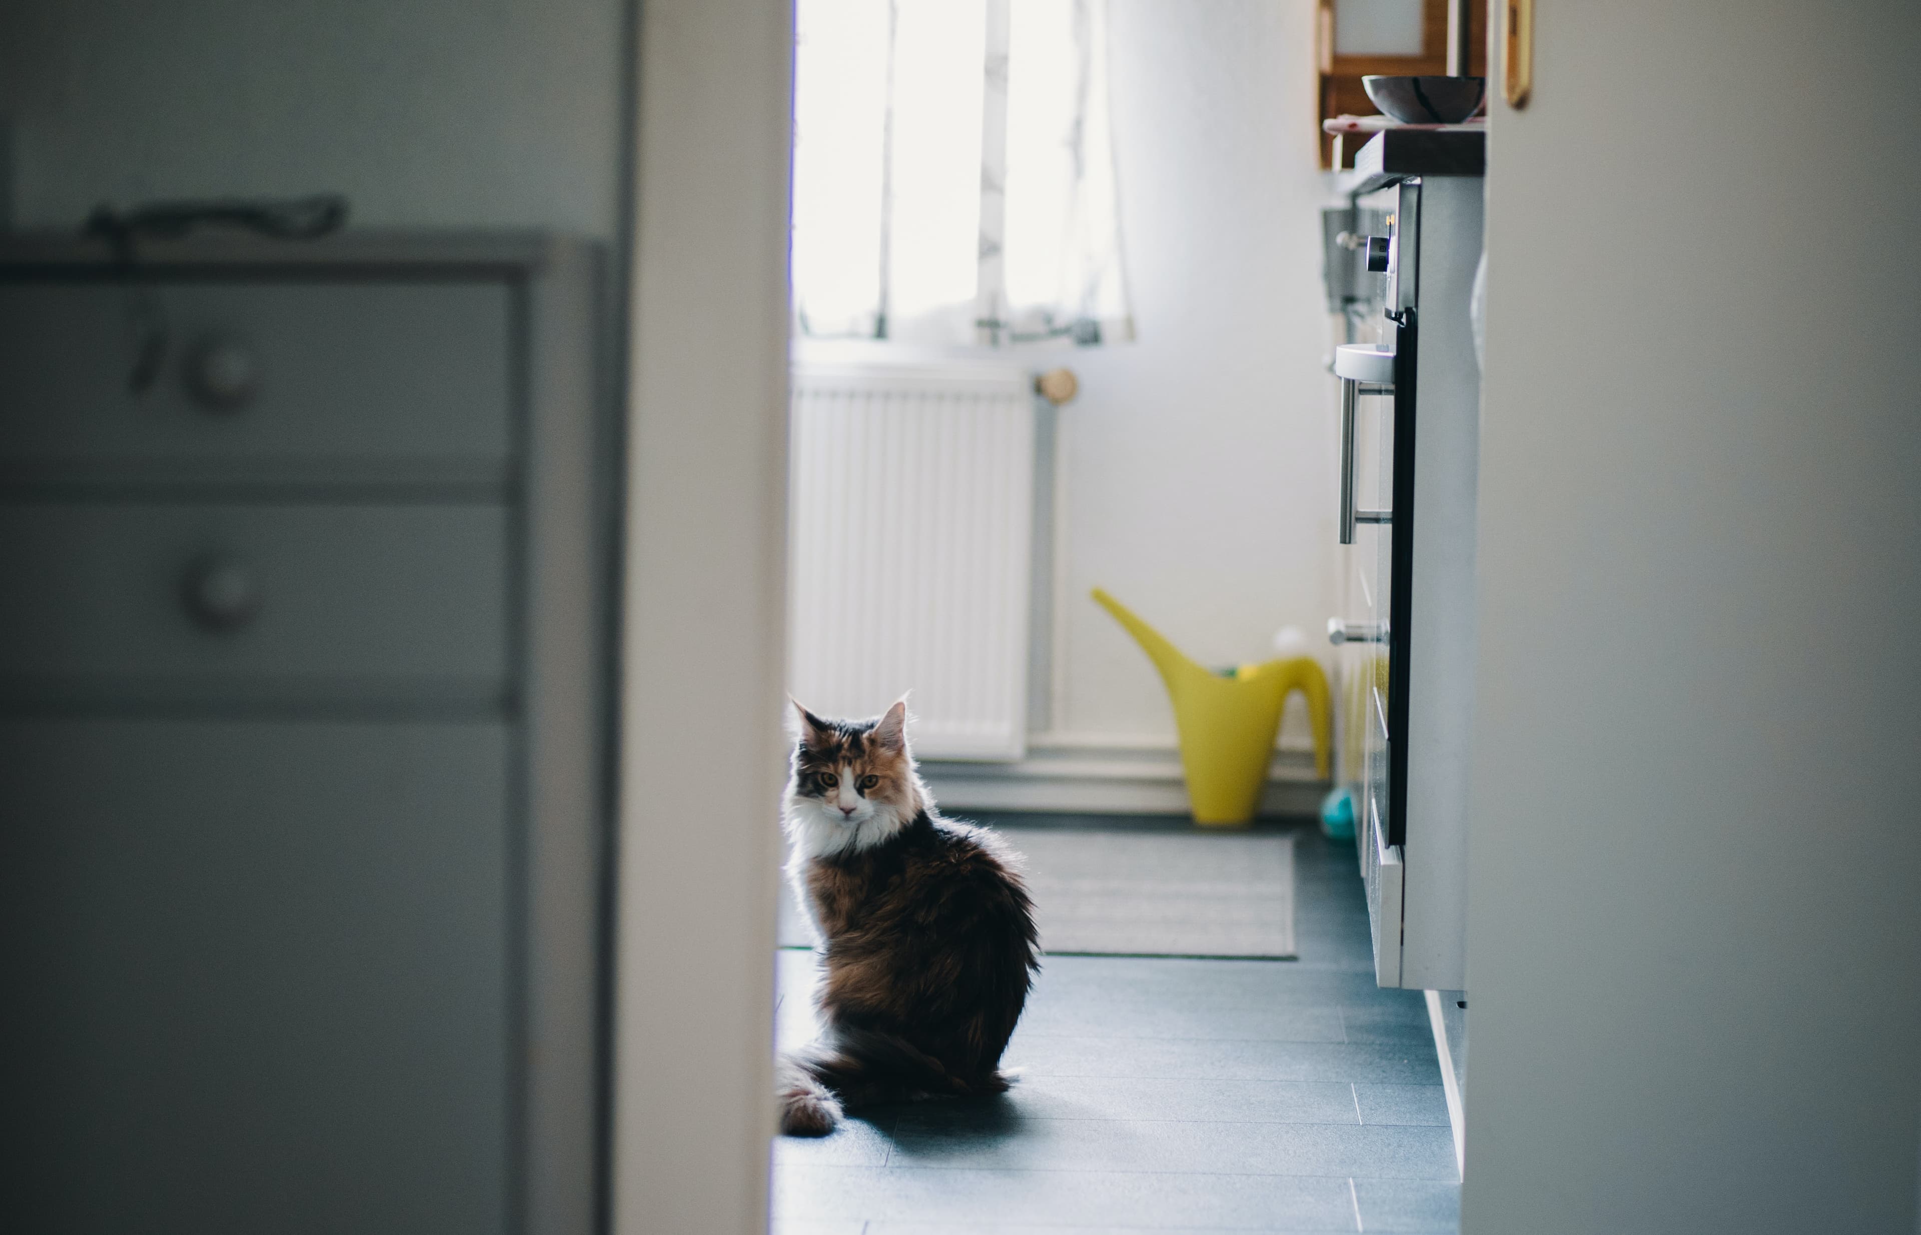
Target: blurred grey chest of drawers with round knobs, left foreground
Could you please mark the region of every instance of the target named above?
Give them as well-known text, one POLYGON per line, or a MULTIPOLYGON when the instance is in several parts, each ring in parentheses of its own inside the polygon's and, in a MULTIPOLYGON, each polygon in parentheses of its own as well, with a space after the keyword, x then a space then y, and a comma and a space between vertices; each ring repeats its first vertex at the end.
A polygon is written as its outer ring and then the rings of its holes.
POLYGON ((596 298, 0 242, 0 1229, 592 1229, 596 298))

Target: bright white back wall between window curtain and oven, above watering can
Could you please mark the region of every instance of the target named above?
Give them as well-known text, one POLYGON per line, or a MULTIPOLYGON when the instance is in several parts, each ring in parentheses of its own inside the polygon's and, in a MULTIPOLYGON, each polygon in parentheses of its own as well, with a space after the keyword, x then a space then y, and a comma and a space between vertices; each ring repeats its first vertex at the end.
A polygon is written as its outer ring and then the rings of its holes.
MULTIPOLYGON (((1335 417, 1308 0, 1114 0, 1112 98, 1137 342, 1064 353, 1068 542, 1057 728, 1174 739, 1103 586, 1208 665, 1333 615, 1335 417)), ((1295 701, 1299 707, 1299 699, 1295 701)), ((1285 743, 1306 741, 1304 711, 1285 743)))

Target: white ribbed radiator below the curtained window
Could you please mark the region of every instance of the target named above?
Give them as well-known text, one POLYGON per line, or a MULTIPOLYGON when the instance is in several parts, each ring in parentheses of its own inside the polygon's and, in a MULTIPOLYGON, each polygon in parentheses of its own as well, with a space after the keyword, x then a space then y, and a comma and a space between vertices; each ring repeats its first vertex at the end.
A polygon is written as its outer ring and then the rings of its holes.
POLYGON ((795 365, 788 674, 830 716, 912 691, 914 753, 1020 759, 1033 396, 1022 371, 795 365))

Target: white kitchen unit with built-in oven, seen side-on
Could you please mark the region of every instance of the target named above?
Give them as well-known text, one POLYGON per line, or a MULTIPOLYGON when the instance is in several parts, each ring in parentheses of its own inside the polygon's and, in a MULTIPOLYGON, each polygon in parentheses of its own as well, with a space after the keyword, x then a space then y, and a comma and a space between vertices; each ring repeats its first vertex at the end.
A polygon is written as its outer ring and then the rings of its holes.
POLYGON ((1479 133, 1387 131, 1329 240, 1343 290, 1339 647, 1356 841, 1385 987, 1466 987, 1481 380, 1479 133))

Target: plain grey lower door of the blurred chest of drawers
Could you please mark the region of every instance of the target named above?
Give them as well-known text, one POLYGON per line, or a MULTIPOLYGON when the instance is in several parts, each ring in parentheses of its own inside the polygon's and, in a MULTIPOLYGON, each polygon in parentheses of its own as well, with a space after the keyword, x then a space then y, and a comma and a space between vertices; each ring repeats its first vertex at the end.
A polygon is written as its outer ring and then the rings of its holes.
POLYGON ((0 1229, 505 1231, 509 747, 0 722, 0 1229))

